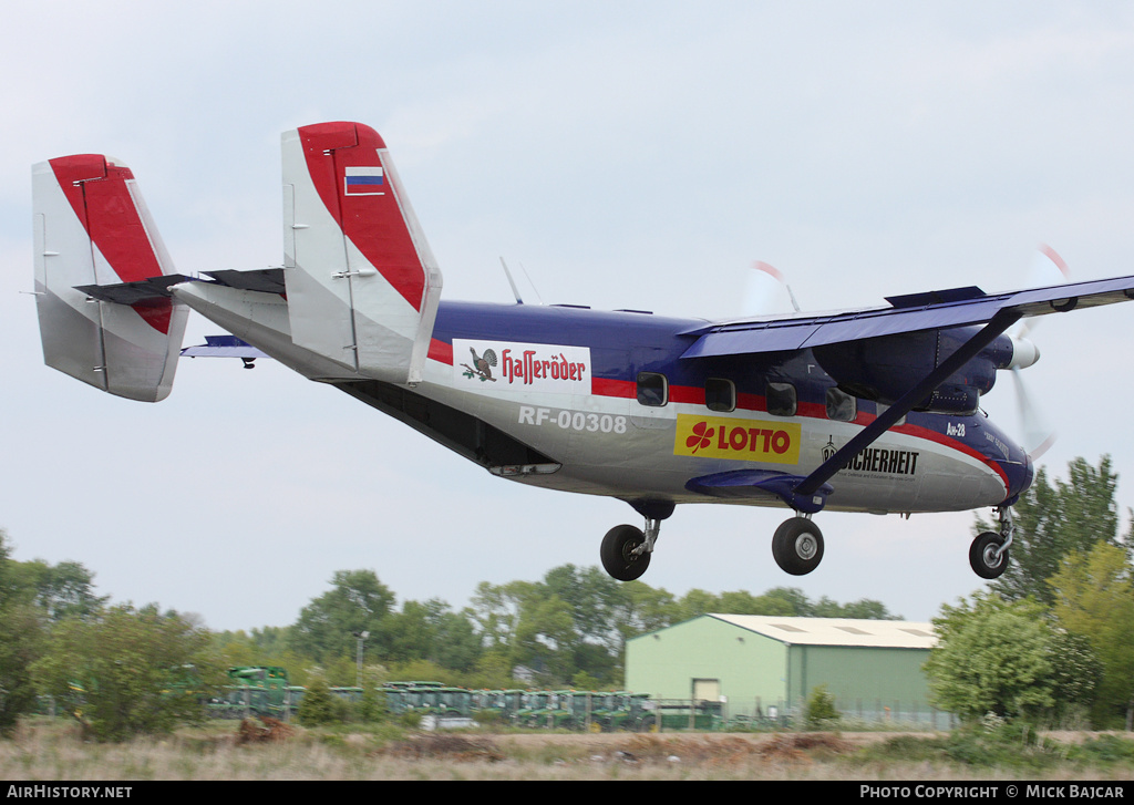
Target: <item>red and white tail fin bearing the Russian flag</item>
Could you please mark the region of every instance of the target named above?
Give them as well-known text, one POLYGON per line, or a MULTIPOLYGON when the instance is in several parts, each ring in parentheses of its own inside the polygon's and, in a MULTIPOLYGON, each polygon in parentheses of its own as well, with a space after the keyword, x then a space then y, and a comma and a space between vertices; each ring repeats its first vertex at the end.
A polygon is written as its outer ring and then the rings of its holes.
POLYGON ((356 122, 282 136, 291 340, 365 376, 421 380, 441 271, 386 143, 356 122))

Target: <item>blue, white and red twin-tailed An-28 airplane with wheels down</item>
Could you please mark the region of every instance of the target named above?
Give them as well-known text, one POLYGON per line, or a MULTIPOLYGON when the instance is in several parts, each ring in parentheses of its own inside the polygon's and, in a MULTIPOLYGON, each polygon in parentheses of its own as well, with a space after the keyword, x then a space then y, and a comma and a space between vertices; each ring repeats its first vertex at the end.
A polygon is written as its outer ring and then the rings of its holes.
POLYGON ((645 573, 661 522, 697 502, 790 510, 771 544, 796 576, 823 557, 814 517, 824 510, 992 507, 999 529, 978 535, 968 558, 997 578, 1012 506, 1034 475, 1029 451, 980 407, 998 372, 1039 358, 1009 330, 1134 298, 1134 277, 1120 277, 728 321, 531 305, 518 294, 448 300, 374 129, 303 126, 284 133, 281 152, 282 265, 195 277, 174 270, 125 163, 75 154, 36 164, 46 365, 159 401, 195 311, 229 334, 189 355, 246 367, 273 358, 493 475, 627 502, 643 527, 615 526, 599 551, 620 581, 645 573))

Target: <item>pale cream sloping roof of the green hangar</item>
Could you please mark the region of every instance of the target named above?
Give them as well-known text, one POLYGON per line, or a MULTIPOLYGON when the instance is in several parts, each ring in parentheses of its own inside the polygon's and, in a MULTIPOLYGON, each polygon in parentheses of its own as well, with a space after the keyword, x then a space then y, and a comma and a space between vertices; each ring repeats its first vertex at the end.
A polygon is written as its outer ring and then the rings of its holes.
POLYGON ((790 645, 846 645, 879 649, 932 649, 932 624, 856 618, 779 618, 765 615, 709 615, 790 645))

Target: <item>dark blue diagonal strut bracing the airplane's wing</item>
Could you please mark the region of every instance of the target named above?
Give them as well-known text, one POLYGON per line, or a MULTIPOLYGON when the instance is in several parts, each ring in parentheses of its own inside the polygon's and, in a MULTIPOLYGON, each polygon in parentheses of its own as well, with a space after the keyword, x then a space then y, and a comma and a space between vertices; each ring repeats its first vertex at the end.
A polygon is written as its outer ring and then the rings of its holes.
POLYGON ((989 323, 965 341, 953 355, 947 357, 930 372, 920 383, 909 389, 902 399, 887 408, 872 423, 858 432, 854 439, 839 448, 833 456, 823 461, 815 472, 805 477, 795 488, 795 494, 809 497, 814 494, 820 486, 839 472, 857 456, 862 450, 870 447, 879 437, 888 431, 898 420, 913 410, 913 407, 925 399, 938 385, 943 383, 950 375, 959 371, 962 366, 976 357, 984 347, 991 344, 997 336, 1004 333, 1009 327, 1019 321, 1022 313, 1012 308, 1004 308, 997 312, 989 323))

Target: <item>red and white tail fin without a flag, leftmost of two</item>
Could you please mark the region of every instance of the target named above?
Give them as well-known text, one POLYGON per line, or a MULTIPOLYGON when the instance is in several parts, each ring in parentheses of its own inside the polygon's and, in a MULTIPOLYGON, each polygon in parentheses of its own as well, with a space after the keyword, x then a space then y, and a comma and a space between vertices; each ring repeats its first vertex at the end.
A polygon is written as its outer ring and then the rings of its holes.
POLYGON ((172 273, 130 169, 101 154, 41 162, 32 204, 44 363, 119 397, 168 397, 188 310, 168 296, 109 302, 92 288, 172 273))

